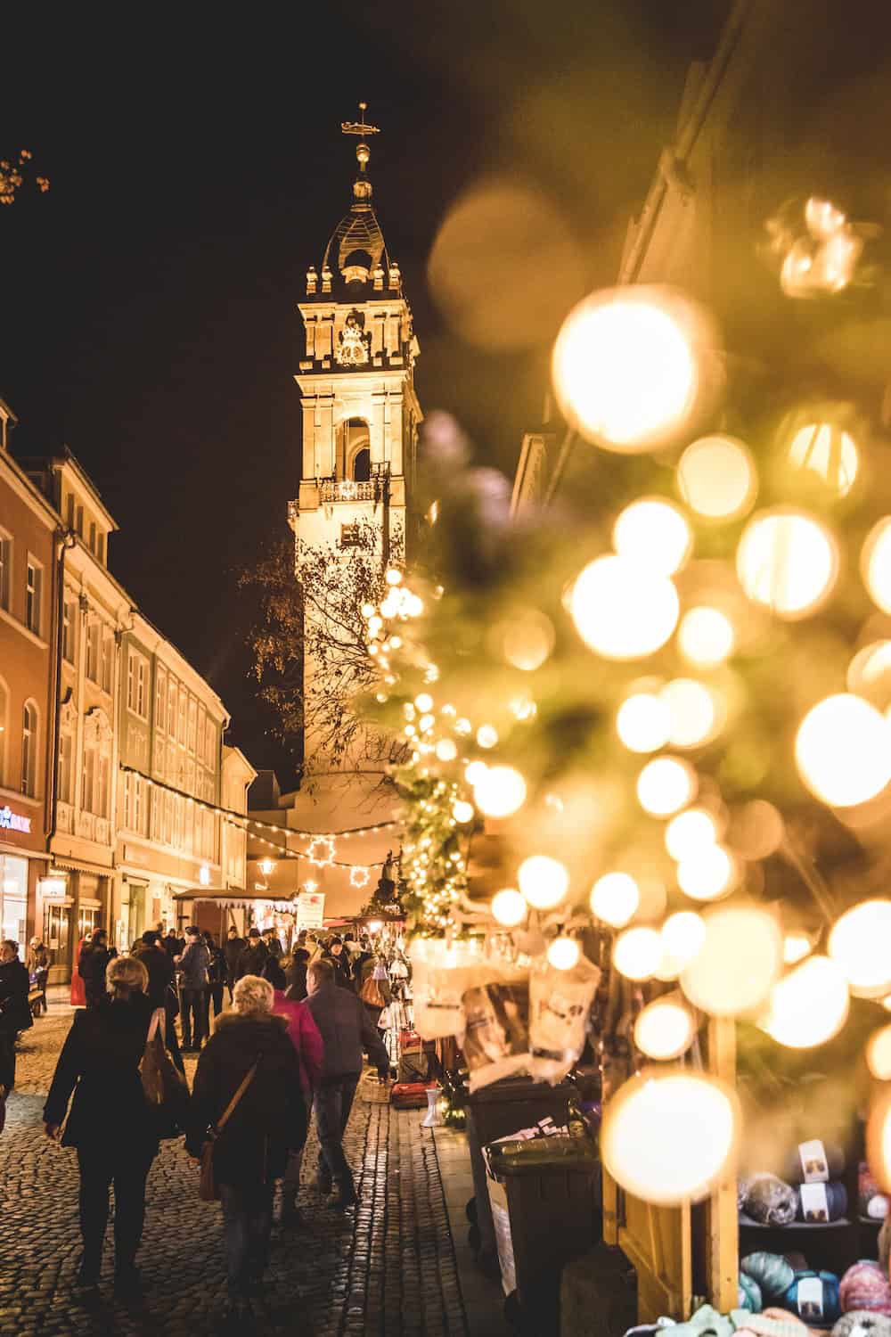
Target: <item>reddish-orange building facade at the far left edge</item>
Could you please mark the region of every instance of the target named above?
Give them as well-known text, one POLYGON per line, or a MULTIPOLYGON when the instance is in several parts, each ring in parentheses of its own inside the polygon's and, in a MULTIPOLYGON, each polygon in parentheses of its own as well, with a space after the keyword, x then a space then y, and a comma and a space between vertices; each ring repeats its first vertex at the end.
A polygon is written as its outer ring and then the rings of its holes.
POLYGON ((9 455, 0 401, 0 936, 25 941, 48 884, 59 517, 9 455))

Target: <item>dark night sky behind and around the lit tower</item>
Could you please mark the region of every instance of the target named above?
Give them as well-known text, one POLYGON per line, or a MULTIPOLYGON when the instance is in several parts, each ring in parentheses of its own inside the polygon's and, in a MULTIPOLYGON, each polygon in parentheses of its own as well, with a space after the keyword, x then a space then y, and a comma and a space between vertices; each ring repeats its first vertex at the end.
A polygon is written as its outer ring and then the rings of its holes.
POLYGON ((520 352, 457 337, 427 290, 437 229, 474 182, 509 174, 562 218, 582 291, 609 283, 688 62, 709 53, 725 8, 329 0, 4 16, 0 156, 29 148, 51 178, 49 194, 25 187, 0 210, 13 452, 71 447, 120 525, 114 574, 222 695, 254 765, 289 778, 247 678, 236 574, 287 533, 297 495, 294 303, 350 203, 355 140, 339 122, 365 99, 383 131, 370 176, 414 310, 422 406, 453 412, 513 475, 553 330, 520 352))

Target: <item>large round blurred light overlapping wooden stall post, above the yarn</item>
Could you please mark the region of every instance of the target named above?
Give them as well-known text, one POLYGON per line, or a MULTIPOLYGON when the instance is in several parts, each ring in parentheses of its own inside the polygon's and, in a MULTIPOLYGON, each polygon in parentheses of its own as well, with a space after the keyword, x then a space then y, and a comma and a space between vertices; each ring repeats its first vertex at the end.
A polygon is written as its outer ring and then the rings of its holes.
POLYGON ((601 1157, 643 1202, 699 1202, 732 1174, 739 1126, 736 1098, 711 1078, 648 1070, 606 1102, 601 1157))

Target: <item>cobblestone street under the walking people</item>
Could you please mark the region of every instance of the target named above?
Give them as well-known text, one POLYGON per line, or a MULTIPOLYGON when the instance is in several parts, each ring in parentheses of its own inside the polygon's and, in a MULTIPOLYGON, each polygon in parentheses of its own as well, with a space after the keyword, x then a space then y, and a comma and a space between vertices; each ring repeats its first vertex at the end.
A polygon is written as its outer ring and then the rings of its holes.
MULTIPOLYGON (((111 1223, 102 1309, 91 1313, 72 1296, 80 1254, 76 1161, 73 1151, 47 1140, 41 1124, 69 1024, 71 1011, 52 1005, 19 1052, 0 1136, 0 1333, 212 1333, 224 1304, 220 1209, 198 1198, 196 1171, 179 1140, 162 1144, 148 1179, 138 1259, 144 1305, 112 1302, 111 1223)), ((435 1144, 422 1118, 423 1111, 391 1111, 374 1083, 359 1087, 345 1139, 361 1197, 354 1213, 327 1207, 310 1186, 317 1154, 310 1134, 301 1190, 306 1225, 274 1233, 258 1332, 470 1333, 435 1144)))

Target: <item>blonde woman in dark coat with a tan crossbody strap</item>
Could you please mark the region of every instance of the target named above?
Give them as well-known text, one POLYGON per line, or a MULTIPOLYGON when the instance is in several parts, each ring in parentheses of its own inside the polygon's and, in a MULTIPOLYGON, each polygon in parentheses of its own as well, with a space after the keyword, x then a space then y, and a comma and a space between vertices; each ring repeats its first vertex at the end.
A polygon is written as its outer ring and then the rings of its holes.
POLYGON ((235 985, 234 1011, 220 1016, 198 1060, 186 1148, 199 1158, 244 1076, 250 1086, 214 1143, 226 1239, 232 1330, 251 1321, 250 1288, 266 1269, 275 1181, 290 1151, 306 1142, 306 1104, 297 1050, 285 1017, 273 1016, 273 985, 246 975, 235 985))

